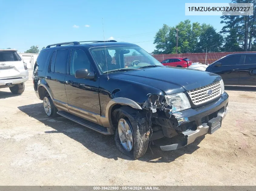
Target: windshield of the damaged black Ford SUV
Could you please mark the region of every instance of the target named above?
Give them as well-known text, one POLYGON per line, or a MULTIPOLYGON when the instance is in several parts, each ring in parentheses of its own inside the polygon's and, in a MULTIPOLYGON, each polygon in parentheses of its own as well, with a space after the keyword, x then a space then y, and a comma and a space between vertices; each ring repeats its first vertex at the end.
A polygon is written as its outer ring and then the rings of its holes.
POLYGON ((101 73, 135 70, 141 67, 163 66, 139 46, 106 46, 91 48, 101 73))

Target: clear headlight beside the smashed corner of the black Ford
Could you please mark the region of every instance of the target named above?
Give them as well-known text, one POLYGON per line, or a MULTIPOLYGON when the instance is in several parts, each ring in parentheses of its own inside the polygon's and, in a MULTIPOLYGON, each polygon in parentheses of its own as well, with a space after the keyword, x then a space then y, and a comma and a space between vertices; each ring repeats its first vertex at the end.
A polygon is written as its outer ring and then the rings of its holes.
POLYGON ((172 112, 191 108, 188 97, 184 93, 166 95, 165 99, 167 104, 172 107, 172 112))

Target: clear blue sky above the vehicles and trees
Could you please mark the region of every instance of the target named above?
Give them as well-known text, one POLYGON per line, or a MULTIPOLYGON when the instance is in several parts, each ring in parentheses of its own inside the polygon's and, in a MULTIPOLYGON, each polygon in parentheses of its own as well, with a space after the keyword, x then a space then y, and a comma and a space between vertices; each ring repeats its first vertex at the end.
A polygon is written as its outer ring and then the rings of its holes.
POLYGON ((32 45, 41 49, 60 42, 103 40, 103 18, 105 40, 136 43, 152 52, 155 33, 163 24, 190 19, 221 30, 220 16, 185 16, 185 3, 200 2, 205 1, 0 0, 0 48, 24 52, 32 45))

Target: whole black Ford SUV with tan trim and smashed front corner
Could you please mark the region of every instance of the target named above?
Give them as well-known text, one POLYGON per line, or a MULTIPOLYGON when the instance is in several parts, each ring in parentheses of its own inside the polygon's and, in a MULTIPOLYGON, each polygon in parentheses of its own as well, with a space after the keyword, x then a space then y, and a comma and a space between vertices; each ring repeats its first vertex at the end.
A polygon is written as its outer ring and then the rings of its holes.
POLYGON ((165 67, 124 42, 49 45, 35 63, 33 83, 47 116, 115 135, 118 149, 135 159, 151 140, 163 138, 159 146, 168 151, 213 133, 228 109, 219 75, 165 67))

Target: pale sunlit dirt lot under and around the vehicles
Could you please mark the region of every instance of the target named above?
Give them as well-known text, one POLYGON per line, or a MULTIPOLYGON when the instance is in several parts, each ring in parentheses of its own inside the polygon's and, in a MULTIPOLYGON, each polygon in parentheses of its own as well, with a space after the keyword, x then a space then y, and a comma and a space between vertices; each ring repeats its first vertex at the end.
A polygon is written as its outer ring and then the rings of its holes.
POLYGON ((30 80, 0 89, 0 185, 256 185, 256 88, 227 87, 221 129, 132 161, 113 136, 45 115, 30 80))

